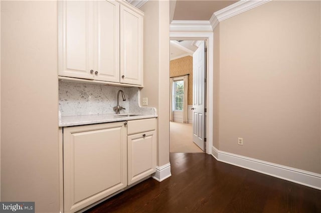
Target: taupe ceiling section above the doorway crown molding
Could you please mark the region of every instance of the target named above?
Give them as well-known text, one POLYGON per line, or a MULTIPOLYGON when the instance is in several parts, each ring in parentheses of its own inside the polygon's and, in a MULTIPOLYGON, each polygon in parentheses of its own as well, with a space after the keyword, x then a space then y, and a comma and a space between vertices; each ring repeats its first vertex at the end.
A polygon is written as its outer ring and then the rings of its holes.
POLYGON ((214 12, 237 0, 177 0, 173 20, 209 20, 214 12))

